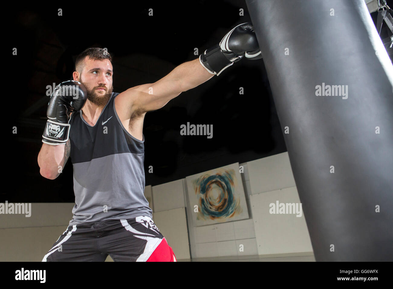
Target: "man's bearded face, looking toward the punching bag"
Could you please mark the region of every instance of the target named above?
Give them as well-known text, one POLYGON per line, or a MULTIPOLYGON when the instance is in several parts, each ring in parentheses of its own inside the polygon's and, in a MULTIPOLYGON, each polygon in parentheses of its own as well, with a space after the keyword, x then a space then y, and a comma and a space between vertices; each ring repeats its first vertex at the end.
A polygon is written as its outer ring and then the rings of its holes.
POLYGON ((108 103, 113 90, 113 68, 109 59, 84 59, 84 68, 79 81, 86 87, 87 99, 97 106, 108 103))

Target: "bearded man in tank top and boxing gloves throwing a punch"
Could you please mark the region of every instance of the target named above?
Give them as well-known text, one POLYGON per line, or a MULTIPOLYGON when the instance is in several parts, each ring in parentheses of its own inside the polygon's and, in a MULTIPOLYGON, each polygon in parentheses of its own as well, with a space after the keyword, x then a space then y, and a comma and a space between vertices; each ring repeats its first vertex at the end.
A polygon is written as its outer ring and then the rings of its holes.
POLYGON ((75 193, 73 218, 42 261, 105 261, 108 254, 114 261, 176 261, 143 195, 145 114, 244 56, 260 59, 260 53, 251 23, 243 23, 198 59, 119 94, 112 92, 110 54, 101 48, 82 52, 74 81, 51 96, 38 155, 48 179, 59 176, 71 157, 75 193))

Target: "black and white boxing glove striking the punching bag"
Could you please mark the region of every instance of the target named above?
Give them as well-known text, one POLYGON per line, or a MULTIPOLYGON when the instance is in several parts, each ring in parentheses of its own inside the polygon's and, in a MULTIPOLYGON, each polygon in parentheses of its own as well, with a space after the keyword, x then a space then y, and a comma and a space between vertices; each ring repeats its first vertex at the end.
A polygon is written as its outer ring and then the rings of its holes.
POLYGON ((244 56, 252 60, 262 58, 251 22, 239 24, 226 33, 219 44, 205 50, 199 56, 199 62, 209 73, 218 76, 244 56))

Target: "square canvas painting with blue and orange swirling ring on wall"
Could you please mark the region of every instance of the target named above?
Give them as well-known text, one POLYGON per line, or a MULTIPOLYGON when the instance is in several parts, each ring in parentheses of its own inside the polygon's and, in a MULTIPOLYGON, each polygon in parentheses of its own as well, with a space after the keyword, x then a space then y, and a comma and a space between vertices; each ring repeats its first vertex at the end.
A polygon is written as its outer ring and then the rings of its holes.
POLYGON ((239 163, 186 177, 186 182, 194 226, 248 219, 239 163))

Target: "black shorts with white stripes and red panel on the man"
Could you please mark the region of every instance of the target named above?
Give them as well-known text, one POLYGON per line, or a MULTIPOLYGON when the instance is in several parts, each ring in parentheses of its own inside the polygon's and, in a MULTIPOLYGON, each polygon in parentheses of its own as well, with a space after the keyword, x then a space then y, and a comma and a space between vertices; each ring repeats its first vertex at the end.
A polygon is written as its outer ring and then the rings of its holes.
POLYGON ((45 261, 176 262, 173 250, 150 217, 111 219, 69 226, 45 261))

